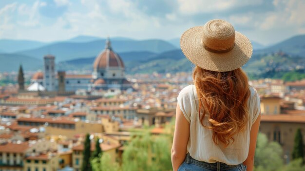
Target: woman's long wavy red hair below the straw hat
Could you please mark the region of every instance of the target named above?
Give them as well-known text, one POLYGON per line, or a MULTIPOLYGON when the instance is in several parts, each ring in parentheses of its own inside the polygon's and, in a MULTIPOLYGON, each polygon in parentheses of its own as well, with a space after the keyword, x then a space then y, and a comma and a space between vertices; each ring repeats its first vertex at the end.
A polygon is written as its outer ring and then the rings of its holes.
POLYGON ((213 131, 215 144, 227 147, 234 135, 242 132, 248 122, 248 77, 241 68, 215 72, 195 67, 192 78, 199 98, 201 124, 213 131), (203 124, 209 114, 210 126, 203 124))

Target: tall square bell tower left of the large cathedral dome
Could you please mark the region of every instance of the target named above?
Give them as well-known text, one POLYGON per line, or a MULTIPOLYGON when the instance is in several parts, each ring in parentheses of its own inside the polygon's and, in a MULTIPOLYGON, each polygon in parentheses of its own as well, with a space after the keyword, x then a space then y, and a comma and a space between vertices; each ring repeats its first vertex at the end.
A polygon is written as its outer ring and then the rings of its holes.
POLYGON ((46 55, 43 59, 43 86, 47 91, 55 91, 55 57, 52 55, 46 55))

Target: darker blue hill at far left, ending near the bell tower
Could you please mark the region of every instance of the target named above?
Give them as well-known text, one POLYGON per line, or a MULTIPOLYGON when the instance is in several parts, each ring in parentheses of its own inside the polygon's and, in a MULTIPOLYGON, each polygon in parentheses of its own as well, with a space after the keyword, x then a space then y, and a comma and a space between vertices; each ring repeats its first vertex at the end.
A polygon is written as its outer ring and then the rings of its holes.
POLYGON ((16 54, 0 54, 0 72, 18 72, 20 64, 24 71, 35 71, 42 69, 43 66, 41 59, 16 54))

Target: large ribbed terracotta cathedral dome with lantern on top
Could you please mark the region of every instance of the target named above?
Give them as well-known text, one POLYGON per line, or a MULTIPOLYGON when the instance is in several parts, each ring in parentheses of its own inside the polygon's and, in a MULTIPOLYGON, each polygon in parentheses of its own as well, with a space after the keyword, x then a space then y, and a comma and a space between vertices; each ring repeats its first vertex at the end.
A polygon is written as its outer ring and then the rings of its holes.
POLYGON ((121 57, 116 54, 111 47, 110 40, 107 39, 106 41, 106 48, 105 50, 100 53, 93 63, 93 69, 98 70, 101 68, 108 68, 108 67, 121 67, 124 68, 124 63, 121 57))

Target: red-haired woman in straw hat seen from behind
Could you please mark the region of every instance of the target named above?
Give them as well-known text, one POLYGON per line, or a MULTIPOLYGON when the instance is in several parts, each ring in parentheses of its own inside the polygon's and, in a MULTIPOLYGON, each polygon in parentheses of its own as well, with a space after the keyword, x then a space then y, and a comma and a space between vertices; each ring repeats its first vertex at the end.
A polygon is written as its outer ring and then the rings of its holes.
POLYGON ((252 171, 260 98, 242 71, 248 38, 214 19, 187 30, 184 55, 196 65, 194 85, 178 95, 172 145, 174 171, 252 171))

